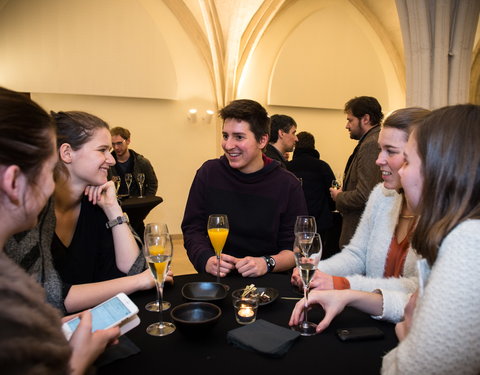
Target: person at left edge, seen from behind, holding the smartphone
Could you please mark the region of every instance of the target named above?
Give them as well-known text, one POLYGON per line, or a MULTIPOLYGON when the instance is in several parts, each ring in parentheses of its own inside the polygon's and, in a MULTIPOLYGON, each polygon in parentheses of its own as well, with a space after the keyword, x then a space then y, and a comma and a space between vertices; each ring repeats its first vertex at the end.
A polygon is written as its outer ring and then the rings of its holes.
POLYGON ((0 88, 0 369, 8 374, 83 374, 120 334, 91 332, 91 314, 68 342, 60 314, 40 285, 3 253, 13 234, 32 228, 54 189, 51 117, 27 96, 0 88))

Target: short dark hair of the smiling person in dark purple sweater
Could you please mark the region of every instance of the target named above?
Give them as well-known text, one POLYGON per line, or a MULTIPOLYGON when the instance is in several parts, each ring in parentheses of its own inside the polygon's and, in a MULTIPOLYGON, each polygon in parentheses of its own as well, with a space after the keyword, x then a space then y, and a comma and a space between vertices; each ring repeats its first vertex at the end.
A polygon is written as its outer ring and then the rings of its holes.
POLYGON ((250 124, 250 130, 257 142, 270 134, 270 118, 262 105, 254 100, 238 99, 230 102, 219 112, 220 118, 225 121, 232 118, 250 124))

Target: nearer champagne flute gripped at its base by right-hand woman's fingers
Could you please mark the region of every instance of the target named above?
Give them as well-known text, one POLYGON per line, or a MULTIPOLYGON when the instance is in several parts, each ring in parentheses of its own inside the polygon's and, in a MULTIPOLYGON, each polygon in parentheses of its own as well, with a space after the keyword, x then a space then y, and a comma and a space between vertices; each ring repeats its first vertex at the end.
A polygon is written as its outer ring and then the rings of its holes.
POLYGON ((298 272, 302 278, 305 306, 303 310, 303 321, 297 326, 292 327, 292 329, 300 332, 302 336, 312 336, 316 333, 315 328, 317 325, 308 321, 308 290, 310 288, 310 281, 312 280, 313 274, 317 269, 318 262, 322 257, 322 240, 320 235, 315 233, 307 252, 305 252, 303 249, 301 249, 301 246, 299 246, 300 241, 300 236, 296 236, 293 252, 295 255, 295 263, 297 265, 298 272))

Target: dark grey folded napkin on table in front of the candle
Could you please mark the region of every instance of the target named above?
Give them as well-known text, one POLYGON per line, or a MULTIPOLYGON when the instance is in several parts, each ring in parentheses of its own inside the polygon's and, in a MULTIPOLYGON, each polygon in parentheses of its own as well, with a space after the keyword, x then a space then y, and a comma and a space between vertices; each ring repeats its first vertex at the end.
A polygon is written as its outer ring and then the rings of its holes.
POLYGON ((258 319, 252 324, 229 331, 227 342, 241 349, 281 357, 299 336, 300 333, 296 331, 258 319))

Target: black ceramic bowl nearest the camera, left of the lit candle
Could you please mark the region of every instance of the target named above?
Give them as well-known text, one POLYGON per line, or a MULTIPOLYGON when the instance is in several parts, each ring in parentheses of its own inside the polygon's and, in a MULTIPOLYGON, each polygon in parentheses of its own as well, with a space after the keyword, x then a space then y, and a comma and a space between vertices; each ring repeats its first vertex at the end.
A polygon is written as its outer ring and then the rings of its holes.
POLYGON ((218 322, 221 315, 220 307, 209 302, 187 302, 170 311, 175 325, 188 334, 207 332, 218 322))

